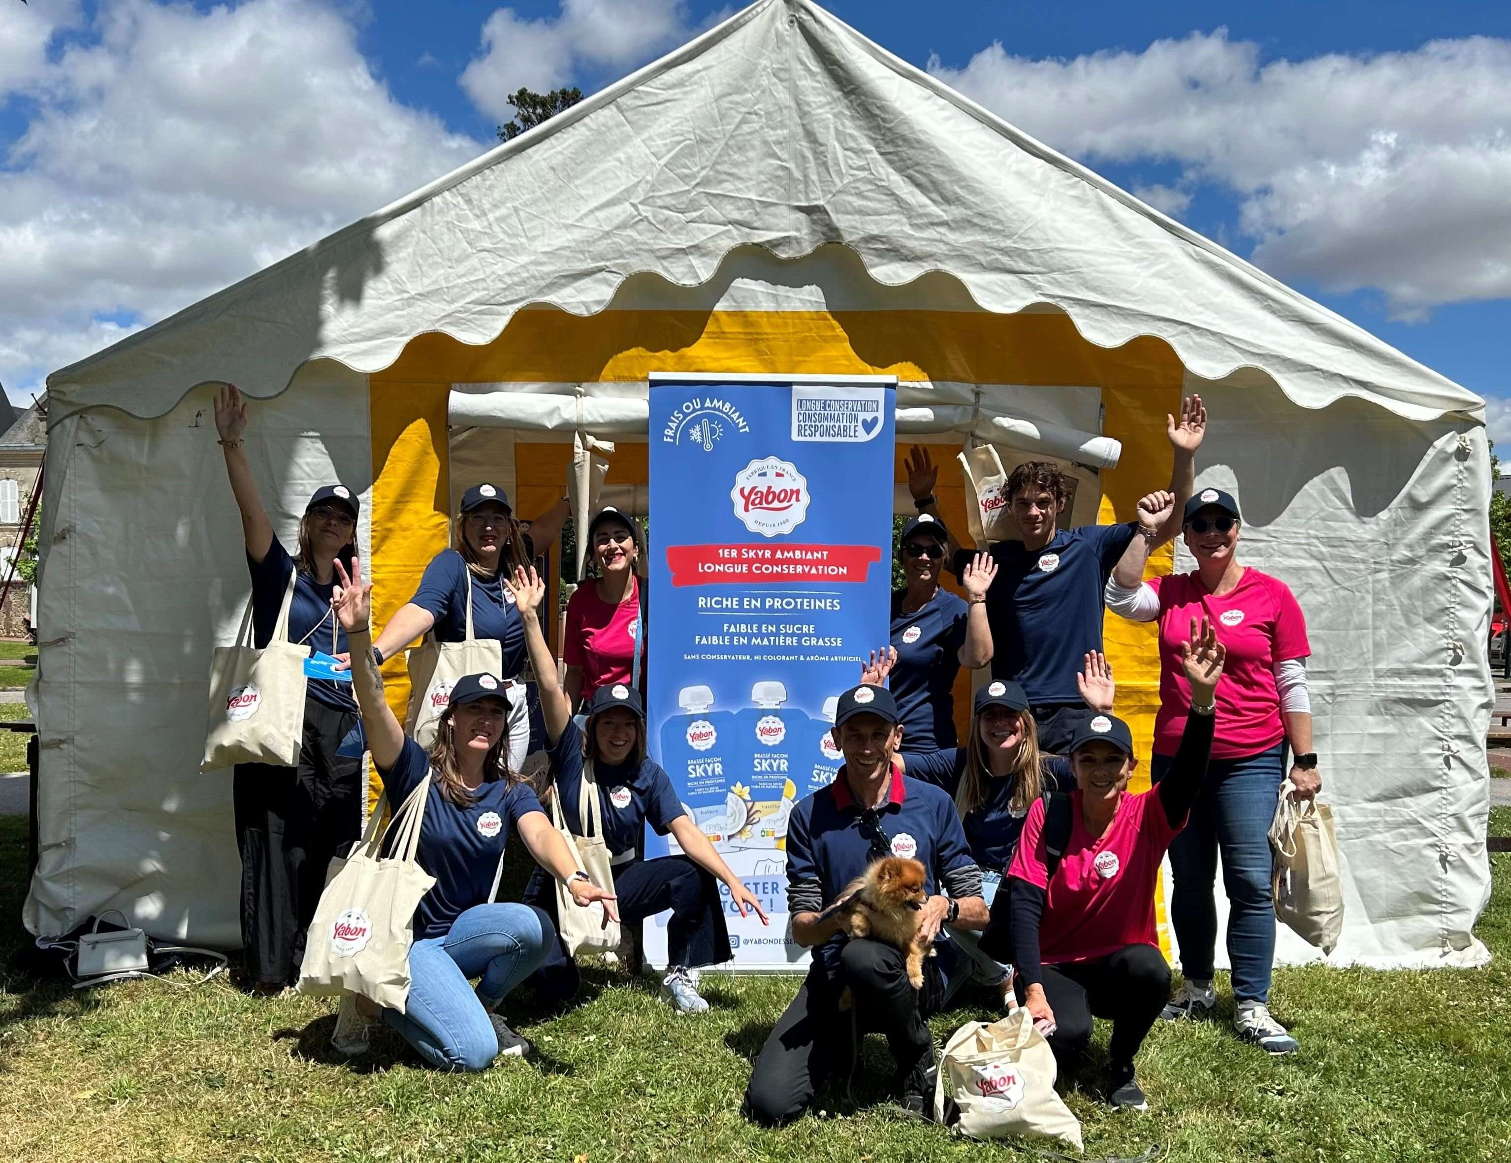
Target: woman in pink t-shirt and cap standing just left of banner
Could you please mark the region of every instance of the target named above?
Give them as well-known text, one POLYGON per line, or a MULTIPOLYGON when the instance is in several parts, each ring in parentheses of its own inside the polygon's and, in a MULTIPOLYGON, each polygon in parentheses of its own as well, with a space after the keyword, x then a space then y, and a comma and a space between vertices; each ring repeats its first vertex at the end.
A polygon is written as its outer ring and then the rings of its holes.
POLYGON ((604 507, 588 524, 585 578, 567 603, 562 662, 567 698, 577 708, 603 686, 621 683, 645 698, 645 578, 639 575, 641 535, 618 509, 604 507))

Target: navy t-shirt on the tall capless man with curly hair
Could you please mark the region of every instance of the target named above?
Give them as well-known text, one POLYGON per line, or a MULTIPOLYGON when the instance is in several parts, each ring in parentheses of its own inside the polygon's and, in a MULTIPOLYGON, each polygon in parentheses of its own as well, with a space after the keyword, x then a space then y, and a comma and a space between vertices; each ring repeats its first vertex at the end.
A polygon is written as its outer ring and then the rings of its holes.
MULTIPOLYGON (((1029 551, 1021 541, 991 547, 993 678, 1017 680, 1035 707, 1080 704, 1076 675, 1086 651, 1102 649, 1102 591, 1136 532, 1132 521, 1082 526, 1059 530, 1041 550, 1029 551)), ((975 550, 955 554, 956 577, 975 556, 975 550)))

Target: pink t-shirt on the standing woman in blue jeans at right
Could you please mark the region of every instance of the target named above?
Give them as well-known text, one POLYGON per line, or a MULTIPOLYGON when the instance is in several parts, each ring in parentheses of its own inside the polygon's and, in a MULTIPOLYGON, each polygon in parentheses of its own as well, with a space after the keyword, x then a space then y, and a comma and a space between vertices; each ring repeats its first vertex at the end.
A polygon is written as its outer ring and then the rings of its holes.
POLYGON ((1191 683, 1180 668, 1180 643, 1191 637, 1191 619, 1207 618, 1227 646, 1218 683, 1216 737, 1212 758, 1257 755, 1286 737, 1275 689, 1275 663, 1306 659, 1307 619, 1290 588, 1278 577, 1245 569, 1231 594, 1207 594, 1191 574, 1154 577, 1159 594, 1159 714, 1154 716, 1154 754, 1174 755, 1186 730, 1191 683))

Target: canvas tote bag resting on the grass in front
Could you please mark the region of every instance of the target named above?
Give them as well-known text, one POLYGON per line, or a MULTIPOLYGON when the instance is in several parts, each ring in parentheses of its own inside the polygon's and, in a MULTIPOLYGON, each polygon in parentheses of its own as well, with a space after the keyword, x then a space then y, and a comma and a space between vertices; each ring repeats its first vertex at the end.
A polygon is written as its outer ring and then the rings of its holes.
POLYGON ((1080 1122, 1055 1094, 1055 1051, 1026 1006, 991 1024, 967 1021, 949 1036, 934 1119, 973 1139, 1041 1136, 1082 1149, 1080 1122))

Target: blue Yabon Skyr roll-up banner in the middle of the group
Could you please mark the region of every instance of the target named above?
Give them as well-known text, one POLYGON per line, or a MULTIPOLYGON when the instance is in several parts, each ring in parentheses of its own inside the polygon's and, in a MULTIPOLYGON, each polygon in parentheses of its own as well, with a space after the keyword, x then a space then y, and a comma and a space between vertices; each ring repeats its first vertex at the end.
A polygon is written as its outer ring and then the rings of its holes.
MULTIPOLYGON (((725 893, 737 970, 807 962, 787 817, 834 781, 834 701, 887 642, 895 405, 891 376, 650 378, 650 752, 771 914, 725 893)), ((645 927, 654 965, 668 918, 645 927)))

